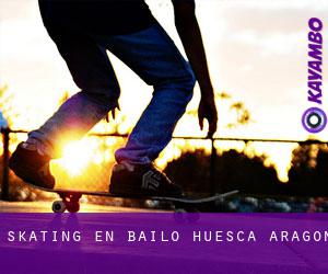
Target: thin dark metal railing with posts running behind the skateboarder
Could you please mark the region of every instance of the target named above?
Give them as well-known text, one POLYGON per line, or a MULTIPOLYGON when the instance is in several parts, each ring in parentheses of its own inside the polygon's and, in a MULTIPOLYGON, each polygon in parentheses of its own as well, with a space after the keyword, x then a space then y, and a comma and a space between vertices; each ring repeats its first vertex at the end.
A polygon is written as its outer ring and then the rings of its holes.
MULTIPOLYGON (((3 153, 2 153, 2 182, 1 182, 1 199, 8 201, 9 199, 9 157, 10 157, 10 135, 11 134, 27 134, 28 132, 23 129, 10 129, 10 128, 2 128, 2 145, 3 145, 3 153)), ((91 133, 87 136, 96 136, 96 137, 117 137, 117 138, 127 138, 128 134, 117 134, 117 133, 91 133)), ((192 137, 192 136, 174 136, 173 139, 183 139, 183 140, 210 140, 211 141, 211 155, 210 155, 210 181, 214 182, 214 174, 215 174, 215 161, 218 158, 216 148, 214 142, 218 140, 222 141, 244 141, 245 145, 247 142, 285 142, 285 144, 298 144, 298 145, 320 145, 325 144, 328 145, 328 141, 320 141, 320 140, 294 140, 294 139, 265 139, 265 138, 235 138, 235 137, 215 137, 215 138, 207 138, 207 137, 192 137)), ((215 183, 212 183, 213 194, 220 192, 220 186, 215 183)))

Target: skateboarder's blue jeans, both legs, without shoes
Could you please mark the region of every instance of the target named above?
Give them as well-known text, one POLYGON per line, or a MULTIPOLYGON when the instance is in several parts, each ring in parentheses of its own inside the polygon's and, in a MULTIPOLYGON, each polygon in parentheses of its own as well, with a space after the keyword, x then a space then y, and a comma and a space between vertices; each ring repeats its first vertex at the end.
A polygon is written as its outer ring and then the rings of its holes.
MULTIPOLYGON (((166 147, 177 121, 192 98, 195 76, 174 42, 160 24, 138 33, 99 36, 49 31, 81 91, 67 100, 28 138, 42 142, 45 152, 67 136, 80 138, 117 106, 119 84, 106 49, 153 85, 153 96, 130 134, 116 151, 118 162, 150 163, 166 147)), ((138 103, 138 102, 136 102, 138 103)))

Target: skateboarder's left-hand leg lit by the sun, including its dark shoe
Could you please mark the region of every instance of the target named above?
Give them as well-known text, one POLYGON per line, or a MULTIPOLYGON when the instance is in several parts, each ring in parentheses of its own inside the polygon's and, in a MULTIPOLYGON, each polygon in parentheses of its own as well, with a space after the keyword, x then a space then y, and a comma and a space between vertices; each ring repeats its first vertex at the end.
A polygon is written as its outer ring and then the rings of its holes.
POLYGON ((40 128, 30 133, 9 162, 25 182, 47 189, 55 185, 49 161, 57 156, 61 140, 84 135, 117 106, 119 96, 119 85, 104 47, 87 36, 65 30, 50 35, 82 91, 65 102, 40 128))

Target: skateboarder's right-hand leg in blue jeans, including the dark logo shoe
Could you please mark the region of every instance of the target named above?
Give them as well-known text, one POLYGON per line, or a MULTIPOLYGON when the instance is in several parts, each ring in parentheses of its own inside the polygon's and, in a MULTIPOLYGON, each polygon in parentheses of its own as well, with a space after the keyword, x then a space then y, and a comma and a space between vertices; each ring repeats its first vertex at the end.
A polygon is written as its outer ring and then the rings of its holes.
POLYGON ((153 98, 126 147, 116 151, 118 164, 113 169, 110 193, 181 195, 181 189, 151 162, 172 139, 175 125, 192 96, 191 68, 159 24, 134 34, 96 38, 154 87, 153 98))

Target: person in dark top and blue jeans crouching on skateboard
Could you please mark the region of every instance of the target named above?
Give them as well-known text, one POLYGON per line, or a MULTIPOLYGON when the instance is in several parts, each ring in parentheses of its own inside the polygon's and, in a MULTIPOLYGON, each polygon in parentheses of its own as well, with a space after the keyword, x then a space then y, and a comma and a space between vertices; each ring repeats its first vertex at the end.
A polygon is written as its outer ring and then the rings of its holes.
MULTIPOLYGON (((118 109, 119 84, 106 49, 153 85, 153 96, 124 148, 116 151, 109 192, 179 196, 180 187, 153 160, 172 139, 192 98, 197 79, 199 125, 216 129, 216 109, 194 0, 173 0, 175 25, 190 65, 153 18, 143 0, 39 0, 45 27, 81 91, 68 99, 38 129, 28 134, 10 159, 25 182, 52 189, 49 161, 66 137, 82 137, 118 109)), ((133 92, 133 91, 130 91, 133 92)), ((136 102, 138 103, 138 102, 136 102)))

